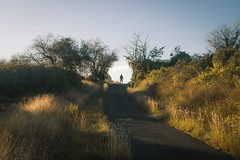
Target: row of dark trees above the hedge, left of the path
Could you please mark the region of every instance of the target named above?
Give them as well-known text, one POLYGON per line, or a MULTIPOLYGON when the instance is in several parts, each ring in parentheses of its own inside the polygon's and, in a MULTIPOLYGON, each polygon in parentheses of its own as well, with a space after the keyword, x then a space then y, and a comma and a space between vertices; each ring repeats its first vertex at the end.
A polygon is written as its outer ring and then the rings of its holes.
MULTIPOLYGON (((36 37, 26 52, 12 56, 8 63, 60 67, 85 78, 104 81, 108 70, 117 60, 116 50, 110 50, 98 39, 81 40, 78 43, 71 37, 49 33, 36 37)), ((6 60, 1 60, 0 65, 5 63, 6 60)))

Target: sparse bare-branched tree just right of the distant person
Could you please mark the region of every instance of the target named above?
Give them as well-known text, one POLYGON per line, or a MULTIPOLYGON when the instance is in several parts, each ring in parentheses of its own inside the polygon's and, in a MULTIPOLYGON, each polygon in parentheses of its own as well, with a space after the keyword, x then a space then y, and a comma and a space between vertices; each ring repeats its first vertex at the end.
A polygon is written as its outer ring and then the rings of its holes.
POLYGON ((148 50, 148 37, 141 38, 140 34, 134 34, 132 41, 125 47, 127 56, 125 56, 129 66, 133 70, 132 80, 138 82, 144 79, 145 75, 162 65, 160 58, 163 55, 164 47, 154 47, 148 50))

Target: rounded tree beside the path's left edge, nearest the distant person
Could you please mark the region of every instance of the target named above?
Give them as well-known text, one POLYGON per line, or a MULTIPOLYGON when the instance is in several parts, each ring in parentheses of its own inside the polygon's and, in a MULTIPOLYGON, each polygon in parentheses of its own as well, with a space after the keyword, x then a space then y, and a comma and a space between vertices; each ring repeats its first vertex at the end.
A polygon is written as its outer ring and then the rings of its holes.
POLYGON ((85 68, 95 80, 103 81, 109 68, 118 60, 116 51, 109 50, 99 40, 82 41, 80 51, 86 57, 85 68))

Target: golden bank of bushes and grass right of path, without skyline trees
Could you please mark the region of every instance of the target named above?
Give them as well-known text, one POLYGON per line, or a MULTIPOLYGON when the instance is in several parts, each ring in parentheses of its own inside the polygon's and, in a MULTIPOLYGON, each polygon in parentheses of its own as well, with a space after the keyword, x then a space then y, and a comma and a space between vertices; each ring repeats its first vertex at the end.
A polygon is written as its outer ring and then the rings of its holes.
POLYGON ((207 56, 153 70, 137 86, 147 84, 142 95, 132 94, 151 116, 239 157, 240 52, 229 52, 215 55, 213 67, 207 56))

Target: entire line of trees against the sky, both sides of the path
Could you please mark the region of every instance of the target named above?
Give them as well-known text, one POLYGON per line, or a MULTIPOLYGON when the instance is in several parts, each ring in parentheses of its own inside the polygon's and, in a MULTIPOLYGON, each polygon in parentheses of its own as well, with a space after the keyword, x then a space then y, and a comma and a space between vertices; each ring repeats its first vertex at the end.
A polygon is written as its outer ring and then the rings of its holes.
MULTIPOLYGON (((198 59, 203 62, 205 57, 205 60, 208 59, 205 67, 221 67, 230 63, 234 67, 240 64, 240 22, 232 26, 222 25, 213 30, 209 33, 207 42, 212 48, 208 53, 190 55, 177 46, 170 53, 170 59, 162 60, 165 46, 150 48, 148 36, 134 33, 130 43, 125 46, 127 55, 124 57, 133 70, 134 81, 142 80, 151 70, 176 65, 180 60, 191 62, 198 59)), ((98 39, 77 42, 71 37, 49 33, 36 37, 24 54, 12 56, 9 62, 62 67, 102 81, 117 60, 116 50, 110 50, 109 46, 98 39)), ((6 61, 1 60, 1 65, 4 62, 6 61)))

